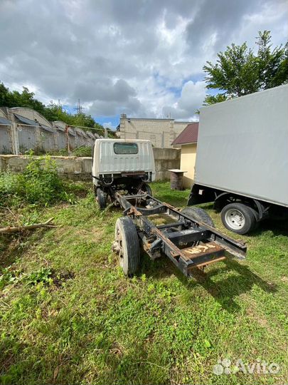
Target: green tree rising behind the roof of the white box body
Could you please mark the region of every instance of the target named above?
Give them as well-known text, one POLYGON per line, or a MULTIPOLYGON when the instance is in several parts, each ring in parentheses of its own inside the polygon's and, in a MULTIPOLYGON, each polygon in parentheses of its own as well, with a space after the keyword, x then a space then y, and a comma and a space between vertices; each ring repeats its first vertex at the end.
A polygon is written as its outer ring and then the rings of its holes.
POLYGON ((288 43, 272 48, 270 31, 259 31, 256 44, 256 54, 247 43, 233 43, 225 52, 218 53, 215 64, 207 62, 203 67, 206 87, 221 93, 207 96, 206 105, 287 83, 288 43))

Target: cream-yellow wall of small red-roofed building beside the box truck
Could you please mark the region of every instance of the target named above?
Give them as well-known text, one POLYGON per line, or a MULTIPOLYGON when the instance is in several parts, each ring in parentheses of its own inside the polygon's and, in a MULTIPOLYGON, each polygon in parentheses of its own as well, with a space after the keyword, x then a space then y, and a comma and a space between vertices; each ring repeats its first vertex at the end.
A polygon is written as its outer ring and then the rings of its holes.
POLYGON ((187 171, 183 176, 183 187, 191 188, 194 181, 197 144, 181 145, 180 169, 187 171))

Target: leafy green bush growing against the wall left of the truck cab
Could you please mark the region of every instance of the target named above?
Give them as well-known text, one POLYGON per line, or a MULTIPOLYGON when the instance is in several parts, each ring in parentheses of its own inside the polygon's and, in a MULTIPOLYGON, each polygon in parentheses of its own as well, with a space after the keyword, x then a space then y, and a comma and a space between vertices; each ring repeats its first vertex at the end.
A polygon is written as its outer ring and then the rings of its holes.
POLYGON ((57 201, 73 202, 68 186, 58 176, 55 161, 49 156, 31 160, 21 174, 0 174, 0 205, 28 202, 49 205, 57 201))

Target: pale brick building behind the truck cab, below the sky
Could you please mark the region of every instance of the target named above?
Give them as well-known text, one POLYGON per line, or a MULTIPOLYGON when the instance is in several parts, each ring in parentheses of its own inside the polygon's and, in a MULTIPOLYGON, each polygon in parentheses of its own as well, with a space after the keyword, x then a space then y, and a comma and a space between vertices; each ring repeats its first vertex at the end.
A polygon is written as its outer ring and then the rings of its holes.
POLYGON ((174 119, 142 119, 120 117, 121 139, 151 140, 155 148, 172 148, 171 143, 186 125, 191 122, 176 122, 174 119))

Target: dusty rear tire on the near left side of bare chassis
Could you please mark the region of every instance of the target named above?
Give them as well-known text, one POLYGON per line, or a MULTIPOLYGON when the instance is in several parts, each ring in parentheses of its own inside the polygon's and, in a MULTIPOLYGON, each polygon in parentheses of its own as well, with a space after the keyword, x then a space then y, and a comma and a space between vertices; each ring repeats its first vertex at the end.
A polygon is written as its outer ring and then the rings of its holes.
POLYGON ((137 230, 131 218, 117 219, 114 245, 124 274, 135 274, 140 264, 140 247, 137 230))

